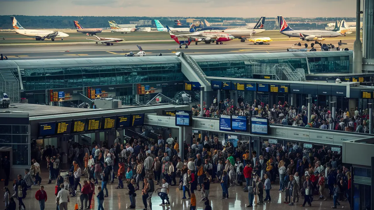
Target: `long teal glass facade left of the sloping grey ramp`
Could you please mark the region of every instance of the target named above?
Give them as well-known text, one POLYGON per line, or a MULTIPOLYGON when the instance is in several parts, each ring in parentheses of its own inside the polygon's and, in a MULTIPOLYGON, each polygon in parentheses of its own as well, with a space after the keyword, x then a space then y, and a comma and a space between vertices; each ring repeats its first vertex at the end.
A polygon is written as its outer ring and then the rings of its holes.
POLYGON ((21 76, 25 90, 180 81, 185 78, 181 63, 30 68, 21 70, 21 76))

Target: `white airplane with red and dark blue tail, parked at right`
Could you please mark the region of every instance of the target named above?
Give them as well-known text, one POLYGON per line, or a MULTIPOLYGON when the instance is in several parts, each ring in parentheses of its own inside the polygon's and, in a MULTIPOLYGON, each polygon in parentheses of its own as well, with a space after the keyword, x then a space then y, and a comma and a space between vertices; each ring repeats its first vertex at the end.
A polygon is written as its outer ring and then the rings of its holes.
POLYGON ((278 16, 279 32, 288 37, 299 37, 301 40, 312 41, 315 38, 338 37, 341 34, 335 31, 325 30, 293 30, 288 26, 283 16, 278 16))

